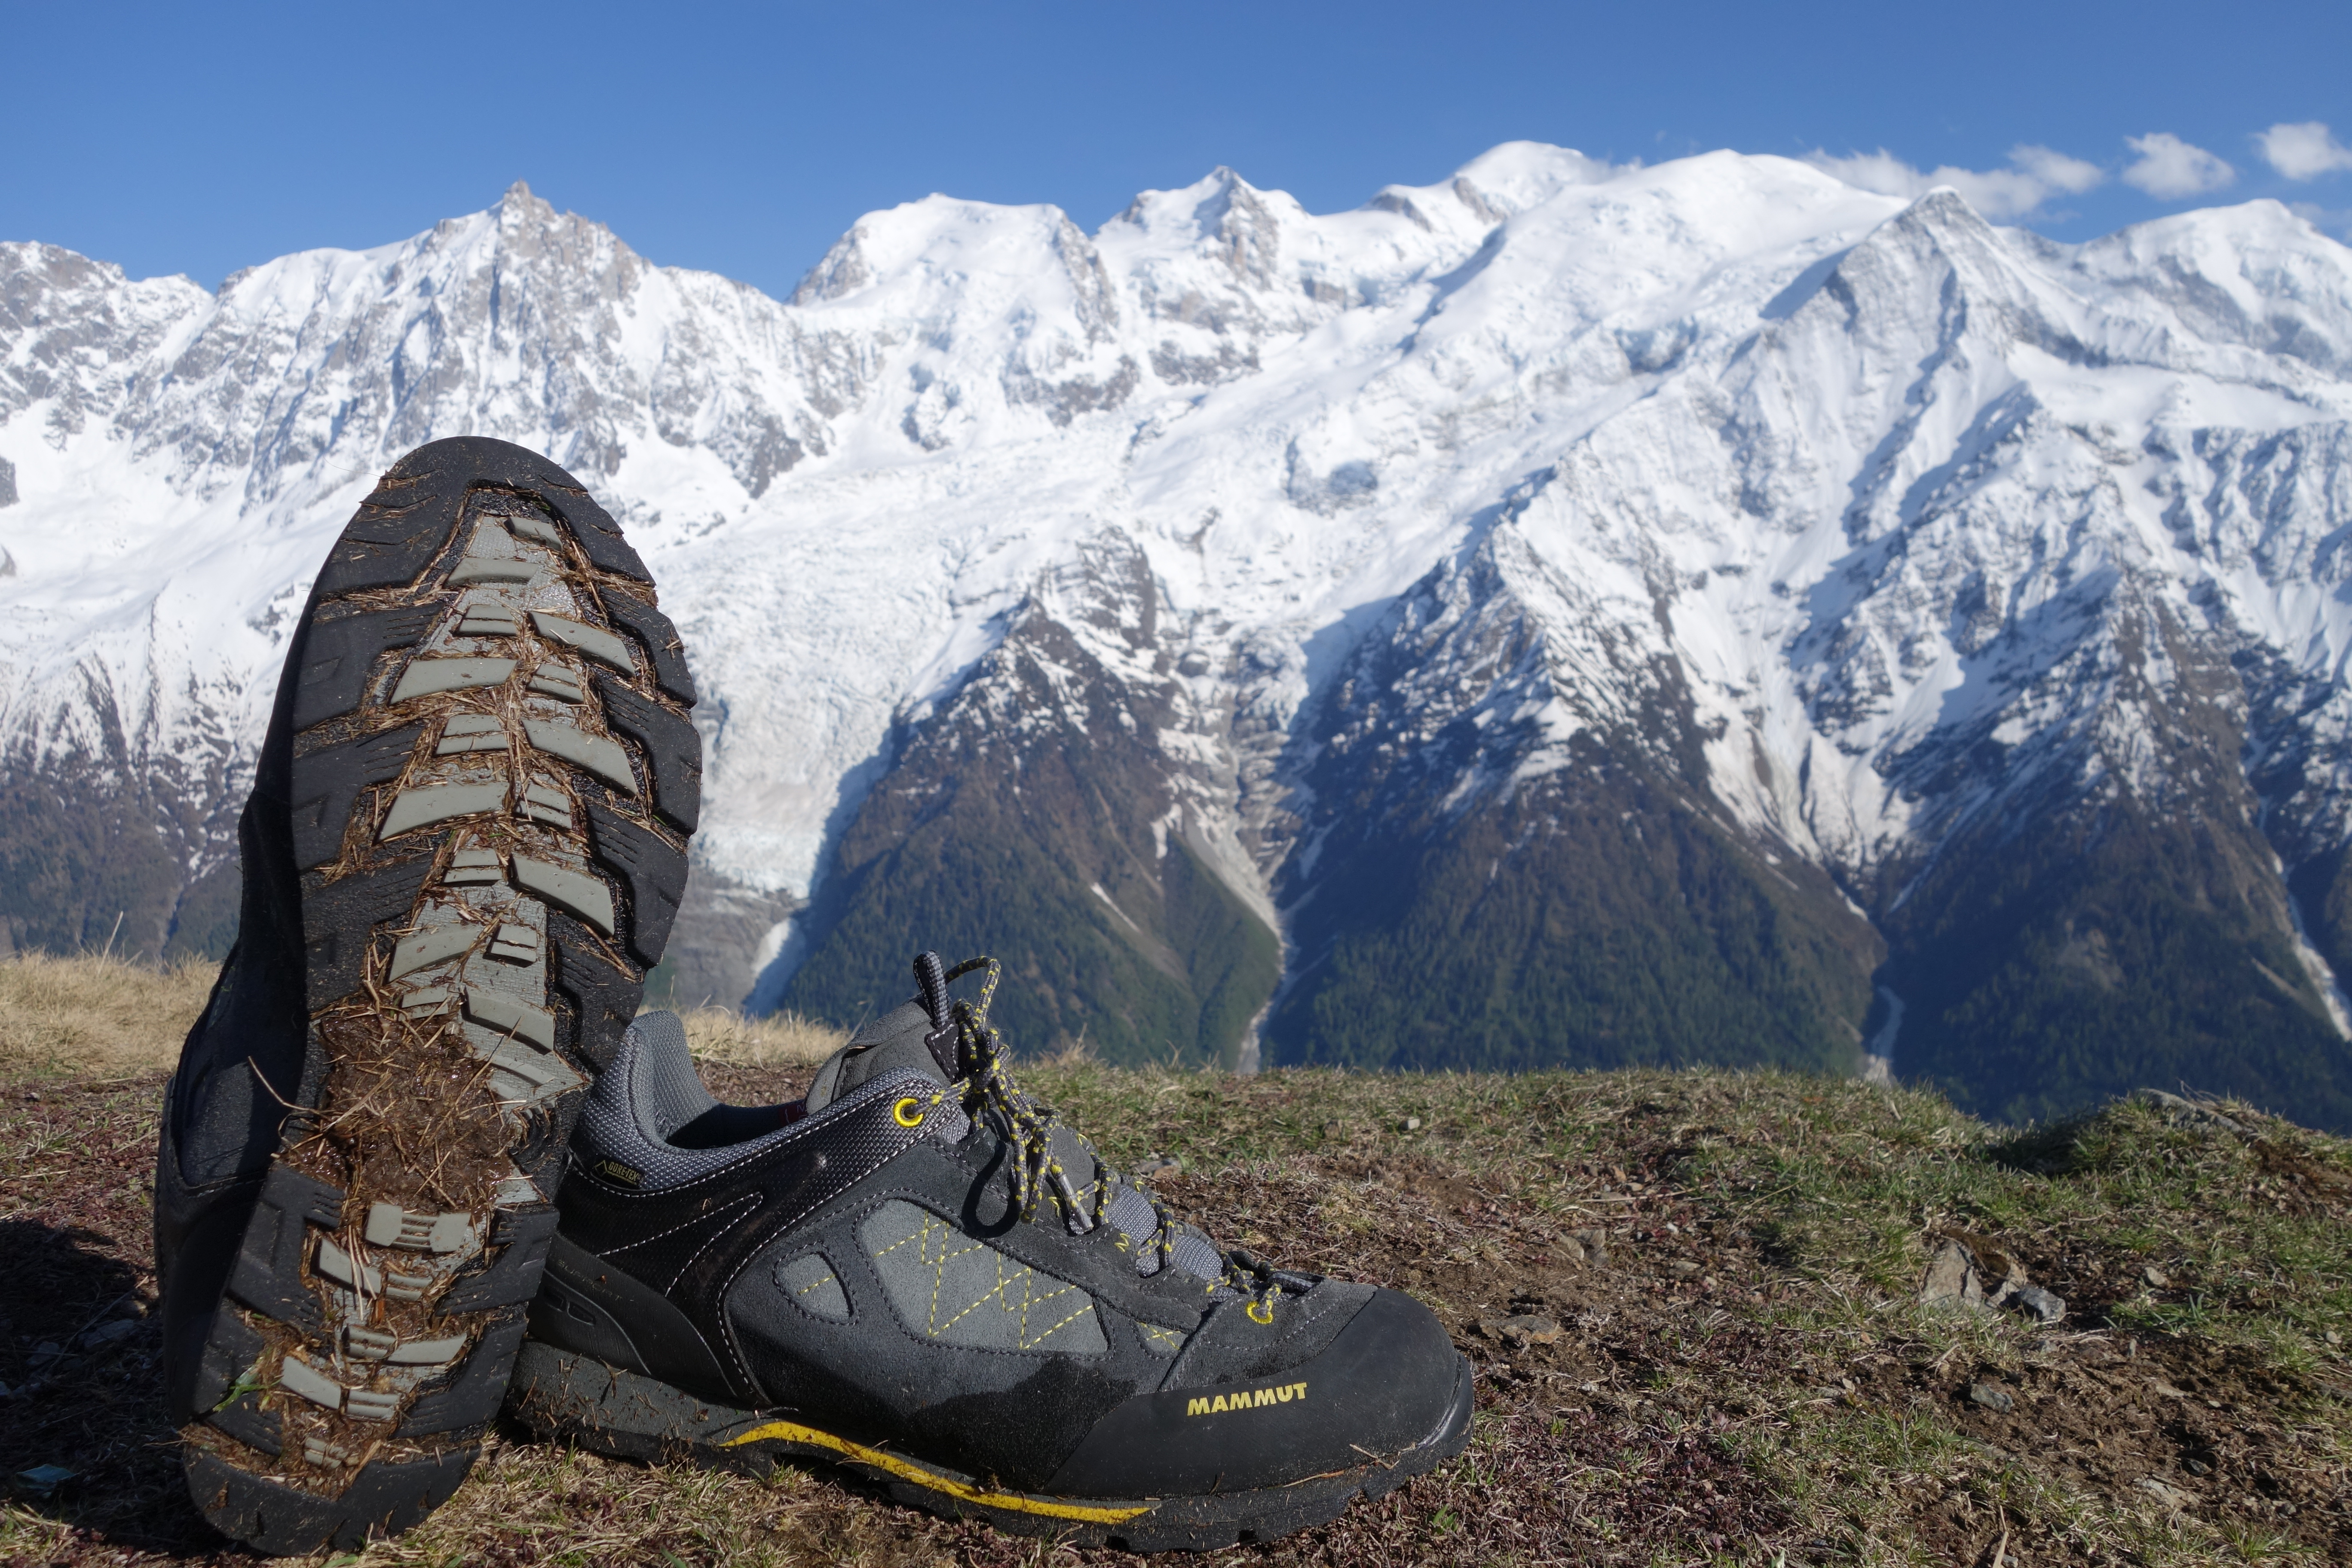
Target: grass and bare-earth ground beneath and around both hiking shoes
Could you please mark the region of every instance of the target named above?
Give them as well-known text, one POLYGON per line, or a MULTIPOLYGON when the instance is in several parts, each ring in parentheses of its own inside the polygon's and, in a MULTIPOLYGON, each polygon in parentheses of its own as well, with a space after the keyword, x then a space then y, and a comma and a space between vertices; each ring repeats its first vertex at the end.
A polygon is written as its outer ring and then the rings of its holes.
MULTIPOLYGON (((833 1039, 691 1023, 739 1100, 790 1095, 833 1039)), ((136 1312, 160 1074, 120 1067, 0 1058, 0 1382, 40 1385, 0 1401, 0 1472, 75 1472, 16 1486, 0 1561, 242 1561, 181 1500, 155 1408, 136 1312)), ((1160 1190, 1223 1241, 1409 1288, 1479 1366, 1461 1462, 1235 1561, 2352 1561, 2343 1140, 2138 1103, 2020 1135, 1788 1074, 1028 1077, 1110 1159, 1178 1159, 1160 1190), (2011 1251, 2067 1319, 1917 1305, 1950 1227, 2011 1251), (1559 1333, 1505 1333, 1515 1314, 1559 1333)), ((360 1561, 1080 1556, 833 1472, 757 1483, 499 1439, 360 1561)))

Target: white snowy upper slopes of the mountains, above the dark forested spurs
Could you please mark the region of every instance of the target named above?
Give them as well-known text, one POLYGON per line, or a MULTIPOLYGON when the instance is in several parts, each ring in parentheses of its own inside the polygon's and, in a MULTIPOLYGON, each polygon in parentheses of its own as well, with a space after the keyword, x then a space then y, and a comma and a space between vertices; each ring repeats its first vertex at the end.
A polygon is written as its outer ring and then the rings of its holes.
POLYGON ((1345 672, 1399 637, 1383 745, 1489 736, 1421 759, 1444 811, 1646 748, 1889 933, 1940 853, 2103 799, 2246 818, 2270 924, 2352 832, 2352 254, 2270 202, 2056 247, 1776 158, 1512 143, 1329 216, 1223 169, 1094 235, 929 197, 776 303, 517 186, 219 296, 14 244, 0 310, 0 755, 162 780, 181 889, 233 853, 306 574, 454 433, 595 484, 689 639, 710 990, 783 952, 779 994, 828 844, 1040 616, 1150 686, 1160 830, 1275 924, 1348 837, 1345 672), (1152 651, 1077 583, 1110 548, 1152 651), (2234 731, 2180 741, 2190 698, 2234 731))

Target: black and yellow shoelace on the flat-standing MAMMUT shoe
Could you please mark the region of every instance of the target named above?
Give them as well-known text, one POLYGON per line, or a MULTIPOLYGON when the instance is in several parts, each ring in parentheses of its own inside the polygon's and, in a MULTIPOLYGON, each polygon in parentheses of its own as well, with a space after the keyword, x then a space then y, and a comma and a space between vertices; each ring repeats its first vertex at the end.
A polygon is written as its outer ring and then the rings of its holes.
MULTIPOLYGON (((997 980, 1004 976, 1004 966, 990 957, 964 959, 950 969, 938 990, 946 985, 978 971, 988 971, 981 980, 978 1001, 953 1001, 948 1006, 948 1020, 955 1030, 955 1072, 964 1086, 964 1114, 974 1121, 983 1119, 983 1112, 995 1112, 993 1126, 1004 1135, 1011 1147, 1011 1197, 1021 1208, 1023 1220, 1037 1218, 1037 1206, 1042 1199, 1051 1197, 1061 1208, 1063 1225, 1070 1234, 1084 1237, 1096 1225, 1110 1218, 1110 1201, 1117 1197, 1117 1185, 1110 1180, 1110 1171, 1103 1159, 1094 1152, 1094 1140, 1080 1133, 1075 1126, 1068 1128, 1077 1138, 1080 1147, 1094 1164, 1094 1180, 1087 1197, 1077 1194, 1070 1182, 1068 1168, 1063 1168, 1061 1157, 1054 1154, 1054 1107, 1040 1105, 1021 1088, 1004 1065, 1007 1048, 1004 1037, 997 1027, 988 1023, 988 1004, 997 994, 997 980)), ((934 971, 936 973, 936 971, 934 971)), ((929 985, 924 990, 931 990, 929 985)), ((946 1095, 941 1093, 943 1103, 946 1095)), ((1160 1253, 1160 1267, 1169 1267, 1176 1255, 1176 1237, 1181 1234, 1181 1220, 1169 1213, 1167 1204, 1148 1187, 1134 1187, 1152 1206, 1152 1248, 1160 1253)), ((1284 1288, 1294 1286, 1296 1276, 1284 1276, 1272 1265, 1249 1255, 1247 1251, 1221 1253, 1223 1272, 1218 1279, 1209 1281, 1209 1291, 1218 1286, 1232 1286, 1244 1295, 1251 1295, 1249 1314, 1258 1321, 1272 1321, 1272 1298, 1284 1288)))

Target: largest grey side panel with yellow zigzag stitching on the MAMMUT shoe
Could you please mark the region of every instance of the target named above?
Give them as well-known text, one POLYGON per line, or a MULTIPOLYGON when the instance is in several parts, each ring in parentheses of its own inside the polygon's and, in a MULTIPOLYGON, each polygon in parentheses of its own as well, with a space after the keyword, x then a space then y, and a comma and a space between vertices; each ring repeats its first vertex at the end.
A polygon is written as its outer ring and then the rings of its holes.
POLYGON ((927 1340, 971 1349, 1108 1349, 1094 1298, 967 1237, 950 1220, 894 1199, 858 1225, 866 1258, 898 1321, 927 1340))

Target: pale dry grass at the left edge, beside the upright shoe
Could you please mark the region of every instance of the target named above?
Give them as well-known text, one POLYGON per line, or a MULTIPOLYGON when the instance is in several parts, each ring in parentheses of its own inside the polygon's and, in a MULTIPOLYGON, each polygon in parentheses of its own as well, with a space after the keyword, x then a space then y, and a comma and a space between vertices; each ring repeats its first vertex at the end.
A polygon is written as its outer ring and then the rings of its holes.
POLYGON ((0 959, 0 1079, 92 1079, 153 1072, 212 994, 219 964, 169 969, 82 952, 0 959))

